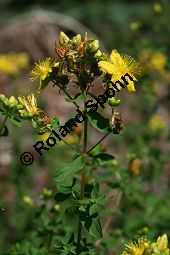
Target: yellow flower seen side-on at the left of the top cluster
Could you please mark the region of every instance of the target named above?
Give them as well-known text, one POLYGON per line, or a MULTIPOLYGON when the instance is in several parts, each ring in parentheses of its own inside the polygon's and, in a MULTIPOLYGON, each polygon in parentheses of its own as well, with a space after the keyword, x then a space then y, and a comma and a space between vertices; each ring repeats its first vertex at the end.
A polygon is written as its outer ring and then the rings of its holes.
POLYGON ((42 61, 35 64, 35 67, 33 68, 31 72, 31 80, 34 81, 36 79, 40 79, 40 86, 38 91, 40 91, 42 87, 42 81, 44 81, 52 72, 53 67, 58 67, 59 62, 55 62, 55 60, 52 60, 51 58, 47 58, 45 61, 42 61))

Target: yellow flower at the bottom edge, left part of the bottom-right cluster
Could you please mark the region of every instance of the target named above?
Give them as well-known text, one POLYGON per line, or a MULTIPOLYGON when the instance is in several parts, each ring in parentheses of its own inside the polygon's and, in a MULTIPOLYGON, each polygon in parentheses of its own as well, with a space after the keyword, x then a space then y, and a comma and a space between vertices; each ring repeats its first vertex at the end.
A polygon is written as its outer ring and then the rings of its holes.
POLYGON ((146 238, 139 238, 137 243, 131 242, 126 244, 126 251, 122 255, 143 255, 149 248, 149 242, 146 238))

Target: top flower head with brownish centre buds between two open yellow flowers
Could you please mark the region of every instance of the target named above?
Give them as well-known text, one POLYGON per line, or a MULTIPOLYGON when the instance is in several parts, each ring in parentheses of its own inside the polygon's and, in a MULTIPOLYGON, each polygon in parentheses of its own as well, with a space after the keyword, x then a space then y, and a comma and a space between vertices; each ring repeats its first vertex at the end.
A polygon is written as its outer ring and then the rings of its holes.
MULTIPOLYGON (((93 81, 104 75, 104 83, 116 82, 128 73, 136 81, 139 66, 135 60, 127 55, 122 56, 113 50, 110 59, 99 49, 99 41, 89 39, 87 33, 84 38, 80 34, 70 39, 63 32, 60 33, 59 43, 55 44, 55 52, 59 61, 47 58, 35 64, 31 73, 31 80, 39 78, 39 92, 52 81, 63 88, 72 82, 82 92, 89 91, 93 81)), ((128 80, 128 91, 135 91, 134 81, 128 80)))

